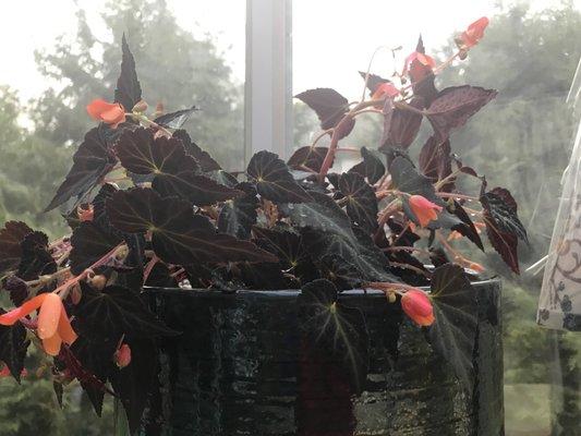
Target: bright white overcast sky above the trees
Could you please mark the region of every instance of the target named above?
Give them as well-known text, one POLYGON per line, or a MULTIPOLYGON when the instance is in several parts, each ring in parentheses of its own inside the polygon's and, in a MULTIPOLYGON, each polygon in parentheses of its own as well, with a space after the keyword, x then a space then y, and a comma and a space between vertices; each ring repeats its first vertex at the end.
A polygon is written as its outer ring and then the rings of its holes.
MULTIPOLYGON (((280 0, 273 0, 280 1, 280 0)), ((534 10, 557 0, 531 0, 534 10)), ((195 36, 210 35, 232 68, 234 80, 244 81, 244 0, 167 0, 178 23, 195 36)), ((366 70, 379 46, 402 46, 406 53, 422 33, 427 50, 444 45, 472 21, 493 15, 495 0, 294 0, 293 90, 327 86, 346 96, 361 93, 358 70, 366 70)), ((35 65, 35 50, 49 49, 55 39, 75 33, 77 4, 86 11, 100 37, 107 29, 99 20, 106 1, 0 0, 0 85, 19 92, 23 101, 49 86, 35 65), (35 11, 34 14, 31 11, 35 11), (23 25, 26 23, 26 25, 23 25)), ((581 0, 576 0, 581 9, 581 0)), ((379 51, 372 71, 388 75, 391 55, 379 51)))

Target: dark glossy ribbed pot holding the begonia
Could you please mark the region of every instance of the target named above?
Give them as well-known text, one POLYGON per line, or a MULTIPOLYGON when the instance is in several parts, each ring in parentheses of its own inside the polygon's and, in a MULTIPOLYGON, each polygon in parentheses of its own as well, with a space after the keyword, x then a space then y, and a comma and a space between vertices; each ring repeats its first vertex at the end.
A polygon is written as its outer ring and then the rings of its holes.
POLYGON ((298 291, 148 290, 158 315, 183 335, 165 340, 161 420, 143 434, 504 435, 500 282, 474 287, 480 316, 471 399, 423 331, 383 293, 340 296, 364 313, 370 331, 370 372, 363 392, 353 393, 332 362, 305 360, 298 291))

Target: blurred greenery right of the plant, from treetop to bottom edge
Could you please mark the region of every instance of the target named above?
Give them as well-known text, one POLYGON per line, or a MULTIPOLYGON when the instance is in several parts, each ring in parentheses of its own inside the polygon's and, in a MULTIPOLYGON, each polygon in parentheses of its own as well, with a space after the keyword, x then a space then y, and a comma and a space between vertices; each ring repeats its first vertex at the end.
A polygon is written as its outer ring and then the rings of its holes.
MULTIPOLYGON (((449 56, 453 48, 450 39, 443 55, 449 56)), ((520 247, 524 265, 544 256, 550 242, 560 179, 579 123, 566 99, 580 56, 581 12, 572 1, 536 13, 519 4, 495 15, 469 58, 440 77, 446 84, 498 89, 498 97, 477 119, 452 135, 451 145, 464 164, 486 174, 491 187, 508 187, 517 198, 531 240, 531 246, 520 247)), ((542 275, 517 278, 497 256, 488 256, 486 264, 507 278, 505 383, 507 389, 526 385, 519 391, 522 401, 506 404, 507 428, 521 429, 546 415, 553 435, 578 434, 581 337, 555 335, 535 324, 542 275), (555 374, 561 378, 555 379, 555 374), (550 383, 550 398, 545 393, 543 405, 531 405, 541 387, 550 383)))

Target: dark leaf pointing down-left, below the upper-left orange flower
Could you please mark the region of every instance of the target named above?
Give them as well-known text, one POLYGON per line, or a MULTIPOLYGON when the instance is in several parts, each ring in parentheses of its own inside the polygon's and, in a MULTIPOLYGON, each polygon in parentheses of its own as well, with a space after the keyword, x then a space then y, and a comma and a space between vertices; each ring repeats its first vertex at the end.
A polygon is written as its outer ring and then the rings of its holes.
POLYGON ((110 152, 104 132, 100 128, 87 132, 73 155, 73 167, 45 211, 52 210, 73 196, 86 194, 113 168, 117 159, 110 152))

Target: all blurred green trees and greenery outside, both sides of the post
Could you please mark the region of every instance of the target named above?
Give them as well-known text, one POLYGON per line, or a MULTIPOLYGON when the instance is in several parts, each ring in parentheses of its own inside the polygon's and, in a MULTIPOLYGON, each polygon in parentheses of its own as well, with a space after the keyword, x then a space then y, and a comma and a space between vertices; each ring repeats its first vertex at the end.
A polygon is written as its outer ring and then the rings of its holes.
MULTIPOLYGON (((66 230, 58 211, 43 215, 40 210, 69 169, 76 144, 92 125, 85 116, 86 104, 112 93, 124 31, 148 102, 171 101, 173 106, 168 110, 192 104, 201 107, 203 110, 186 125, 192 137, 211 149, 227 168, 241 168, 242 87, 233 83, 211 39, 196 39, 181 29, 164 3, 109 3, 102 20, 111 28, 111 43, 95 37, 80 10, 74 41, 60 40, 49 51, 37 53, 39 70, 47 78, 64 84, 61 88, 49 88, 41 98, 23 107, 13 90, 0 87, 0 221, 21 219, 45 228, 52 237, 66 230), (32 130, 22 126, 23 114, 32 120, 32 130)), ((440 57, 451 47, 450 37, 449 46, 440 49, 440 57)), ((445 86, 468 82, 499 90, 493 104, 452 136, 452 149, 465 164, 485 173, 493 186, 508 187, 519 201, 519 215, 532 241, 530 247, 521 250, 525 265, 545 254, 550 239, 560 175, 579 122, 565 98, 580 56, 581 13, 571 2, 541 13, 518 5, 495 16, 470 58, 438 78, 445 86)), ((294 108, 294 144, 308 144, 317 130, 316 120, 303 105, 295 104, 294 108)), ((374 147, 380 123, 368 118, 358 124, 348 145, 374 147)), ((555 335, 536 327, 541 277, 515 277, 495 256, 481 261, 506 278, 508 433, 534 435, 549 419, 552 402, 553 434, 573 435, 571 425, 581 422, 579 335, 555 335), (559 348, 571 351, 565 364, 555 361, 559 354, 554 351, 559 348), (565 393, 559 386, 550 388, 555 367, 565 367, 573 380, 577 377, 577 386, 566 385, 565 393), (508 401, 511 398, 517 401, 508 401)), ((64 410, 58 409, 51 384, 36 374, 41 365, 39 359, 33 356, 28 362, 31 375, 23 382, 24 389, 11 379, 0 379, 0 435, 31 435, 39 428, 49 436, 111 434, 111 404, 106 407, 104 420, 96 419, 75 386, 69 388, 64 410)))

